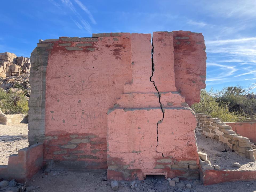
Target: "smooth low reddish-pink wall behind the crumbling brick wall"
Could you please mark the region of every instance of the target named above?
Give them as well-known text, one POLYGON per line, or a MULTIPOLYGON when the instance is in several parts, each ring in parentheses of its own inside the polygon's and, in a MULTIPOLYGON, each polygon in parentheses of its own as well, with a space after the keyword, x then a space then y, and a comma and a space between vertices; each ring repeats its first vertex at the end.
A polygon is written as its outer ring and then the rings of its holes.
POLYGON ((252 143, 256 142, 256 122, 233 122, 226 123, 232 130, 243 137, 248 137, 252 143))

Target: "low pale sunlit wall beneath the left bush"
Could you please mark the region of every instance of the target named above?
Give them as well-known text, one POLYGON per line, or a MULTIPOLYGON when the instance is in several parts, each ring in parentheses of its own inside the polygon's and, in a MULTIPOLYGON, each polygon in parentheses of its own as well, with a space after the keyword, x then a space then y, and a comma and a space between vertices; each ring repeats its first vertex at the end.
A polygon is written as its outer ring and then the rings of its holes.
POLYGON ((5 115, 0 112, 0 124, 11 125, 13 123, 27 123, 27 118, 24 114, 5 115), (24 119, 24 120, 23 120, 24 119))

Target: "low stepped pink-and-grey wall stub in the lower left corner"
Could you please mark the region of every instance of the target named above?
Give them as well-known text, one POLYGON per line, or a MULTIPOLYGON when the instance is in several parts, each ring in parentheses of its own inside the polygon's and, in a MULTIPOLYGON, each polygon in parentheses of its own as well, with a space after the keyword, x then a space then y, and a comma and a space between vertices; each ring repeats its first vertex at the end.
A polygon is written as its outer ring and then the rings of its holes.
POLYGON ((43 166, 43 144, 20 149, 10 155, 7 166, 0 166, 0 178, 16 179, 19 183, 29 181, 43 166))

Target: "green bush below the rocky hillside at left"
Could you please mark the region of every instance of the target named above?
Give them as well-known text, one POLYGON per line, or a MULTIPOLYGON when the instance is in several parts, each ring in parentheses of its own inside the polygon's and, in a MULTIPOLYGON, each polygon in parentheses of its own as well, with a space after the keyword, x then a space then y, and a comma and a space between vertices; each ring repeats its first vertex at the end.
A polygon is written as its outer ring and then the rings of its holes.
POLYGON ((23 94, 0 90, 0 109, 4 114, 27 114, 29 106, 23 94))

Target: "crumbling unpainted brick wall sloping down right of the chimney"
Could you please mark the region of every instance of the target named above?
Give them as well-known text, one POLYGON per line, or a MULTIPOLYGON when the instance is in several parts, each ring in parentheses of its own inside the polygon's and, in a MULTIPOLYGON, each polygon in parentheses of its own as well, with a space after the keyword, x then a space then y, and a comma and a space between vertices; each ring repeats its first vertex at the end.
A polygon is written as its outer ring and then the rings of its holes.
MULTIPOLYGON (((195 133, 226 143, 235 153, 255 161, 255 149, 251 148, 250 139, 237 134, 231 126, 210 115, 196 113, 195 133)), ((256 154, 255 154, 256 155, 256 154)))

